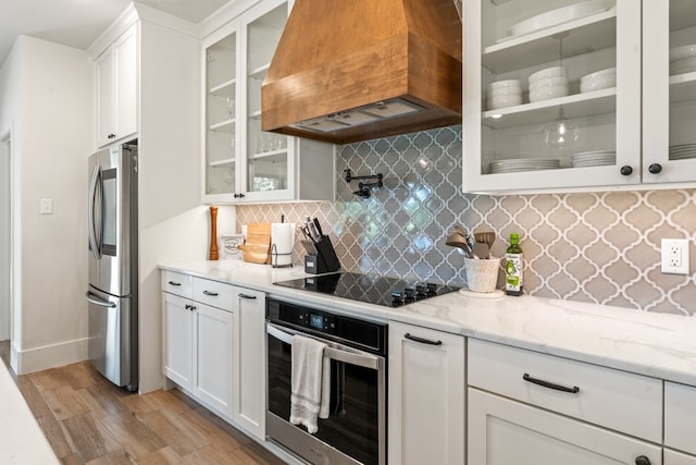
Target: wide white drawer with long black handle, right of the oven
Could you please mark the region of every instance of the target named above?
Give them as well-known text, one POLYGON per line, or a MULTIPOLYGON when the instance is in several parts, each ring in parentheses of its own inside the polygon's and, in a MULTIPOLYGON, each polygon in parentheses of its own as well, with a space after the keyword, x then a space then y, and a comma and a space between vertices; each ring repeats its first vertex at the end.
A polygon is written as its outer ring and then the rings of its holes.
POLYGON ((662 439, 662 381, 655 378, 471 339, 469 384, 649 441, 662 439))

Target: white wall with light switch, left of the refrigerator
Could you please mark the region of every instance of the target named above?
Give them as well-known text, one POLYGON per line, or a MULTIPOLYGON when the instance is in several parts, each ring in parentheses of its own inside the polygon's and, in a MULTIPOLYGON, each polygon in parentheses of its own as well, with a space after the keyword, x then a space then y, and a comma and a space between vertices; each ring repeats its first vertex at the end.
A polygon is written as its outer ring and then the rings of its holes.
POLYGON ((84 51, 21 36, 0 76, 13 97, 0 100, 0 127, 13 122, 13 352, 23 374, 86 358, 92 68, 84 51), (41 198, 53 199, 53 215, 39 215, 41 198))

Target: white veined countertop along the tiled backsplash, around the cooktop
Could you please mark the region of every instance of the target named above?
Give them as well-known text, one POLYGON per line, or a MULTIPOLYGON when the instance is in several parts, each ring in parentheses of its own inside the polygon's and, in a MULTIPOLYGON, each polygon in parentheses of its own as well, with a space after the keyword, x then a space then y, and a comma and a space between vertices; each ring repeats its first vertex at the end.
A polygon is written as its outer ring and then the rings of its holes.
POLYGON ((301 267, 239 260, 161 265, 291 298, 318 308, 499 342, 655 378, 696 386, 696 318, 531 296, 484 298, 450 293, 398 308, 274 285, 308 277, 301 267))

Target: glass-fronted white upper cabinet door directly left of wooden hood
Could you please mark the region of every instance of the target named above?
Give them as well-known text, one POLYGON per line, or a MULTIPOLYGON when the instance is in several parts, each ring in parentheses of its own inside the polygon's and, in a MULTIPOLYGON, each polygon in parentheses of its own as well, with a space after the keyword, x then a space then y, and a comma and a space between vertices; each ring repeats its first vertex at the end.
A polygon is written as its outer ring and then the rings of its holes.
POLYGON ((288 136, 261 131, 261 85, 288 15, 285 0, 259 3, 241 19, 245 118, 241 121, 244 199, 282 200, 295 196, 295 147, 288 136))

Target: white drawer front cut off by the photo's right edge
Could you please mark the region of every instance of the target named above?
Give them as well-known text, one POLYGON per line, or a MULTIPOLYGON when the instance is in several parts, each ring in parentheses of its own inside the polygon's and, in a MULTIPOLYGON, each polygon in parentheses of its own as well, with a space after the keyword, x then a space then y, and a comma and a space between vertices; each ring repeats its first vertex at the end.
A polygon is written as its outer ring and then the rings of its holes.
POLYGON ((664 383, 664 445, 696 454, 696 388, 664 383))

